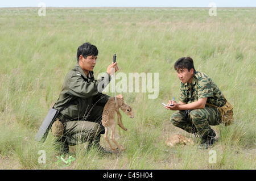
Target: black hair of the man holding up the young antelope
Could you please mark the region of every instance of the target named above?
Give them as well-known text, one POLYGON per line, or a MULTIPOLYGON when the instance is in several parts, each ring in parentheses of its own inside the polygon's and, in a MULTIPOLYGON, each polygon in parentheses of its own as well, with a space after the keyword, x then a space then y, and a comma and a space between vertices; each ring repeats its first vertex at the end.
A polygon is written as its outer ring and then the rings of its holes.
POLYGON ((79 57, 82 55, 84 58, 87 56, 97 56, 98 55, 98 49, 95 45, 90 44, 89 42, 86 42, 79 46, 77 48, 77 53, 76 53, 76 59, 77 62, 79 62, 79 57))

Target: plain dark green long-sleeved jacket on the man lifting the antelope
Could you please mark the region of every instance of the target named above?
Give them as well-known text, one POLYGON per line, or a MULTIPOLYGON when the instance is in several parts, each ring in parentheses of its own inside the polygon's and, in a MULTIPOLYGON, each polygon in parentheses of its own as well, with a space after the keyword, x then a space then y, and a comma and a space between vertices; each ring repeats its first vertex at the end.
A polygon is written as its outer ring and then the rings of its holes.
MULTIPOLYGON (((110 82, 110 75, 105 73, 103 77, 96 80, 93 71, 89 71, 90 76, 86 76, 79 64, 69 71, 64 79, 63 87, 59 99, 55 106, 56 110, 67 120, 82 120, 91 110, 93 104, 104 106, 110 96, 98 92, 99 83, 110 82)), ((106 86, 106 84, 105 84, 106 86)))

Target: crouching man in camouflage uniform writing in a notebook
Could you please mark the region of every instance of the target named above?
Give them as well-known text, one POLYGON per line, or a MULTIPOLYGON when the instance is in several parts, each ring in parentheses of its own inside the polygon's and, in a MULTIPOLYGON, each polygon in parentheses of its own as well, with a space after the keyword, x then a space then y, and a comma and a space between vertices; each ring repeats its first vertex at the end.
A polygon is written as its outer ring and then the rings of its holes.
POLYGON ((180 101, 169 100, 168 110, 179 110, 171 116, 171 122, 189 133, 197 133, 201 137, 201 146, 209 148, 215 140, 216 133, 210 125, 221 123, 220 112, 216 107, 226 103, 218 86, 208 75, 196 71, 191 57, 182 57, 175 62, 175 70, 181 81, 180 101), (170 106, 173 104, 173 106, 170 106))

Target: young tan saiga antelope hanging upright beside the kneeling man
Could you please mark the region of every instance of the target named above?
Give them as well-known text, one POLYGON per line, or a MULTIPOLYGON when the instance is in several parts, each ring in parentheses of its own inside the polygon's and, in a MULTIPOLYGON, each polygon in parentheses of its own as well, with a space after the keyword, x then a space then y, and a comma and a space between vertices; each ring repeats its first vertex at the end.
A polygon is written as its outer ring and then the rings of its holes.
POLYGON ((112 97, 108 100, 108 102, 106 103, 103 113, 102 113, 102 120, 101 123, 102 125, 105 127, 105 139, 108 142, 110 148, 112 150, 117 149, 116 147, 112 146, 112 144, 110 144, 109 141, 109 129, 110 129, 110 139, 114 142, 115 145, 117 145, 118 149, 120 151, 125 150, 125 148, 121 148, 121 146, 118 144, 117 141, 115 141, 115 112, 117 113, 117 124, 119 125, 119 127, 121 127, 124 131, 127 131, 127 129, 123 126, 122 123, 122 116, 121 113, 119 112, 119 108, 121 108, 121 110, 123 112, 126 113, 126 115, 128 115, 130 118, 133 118, 133 110, 131 109, 131 107, 129 105, 127 105, 126 103, 123 102, 122 99, 120 98, 116 98, 117 102, 115 103, 115 97, 112 97))

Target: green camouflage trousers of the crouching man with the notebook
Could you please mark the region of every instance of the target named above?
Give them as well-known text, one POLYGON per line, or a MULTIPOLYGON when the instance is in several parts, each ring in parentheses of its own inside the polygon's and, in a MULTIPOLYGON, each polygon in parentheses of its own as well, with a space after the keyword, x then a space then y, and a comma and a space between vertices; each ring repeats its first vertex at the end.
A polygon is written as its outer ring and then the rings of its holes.
POLYGON ((179 111, 172 114, 171 123, 188 133, 198 133, 204 136, 211 132, 210 125, 221 124, 220 112, 213 107, 179 111))

